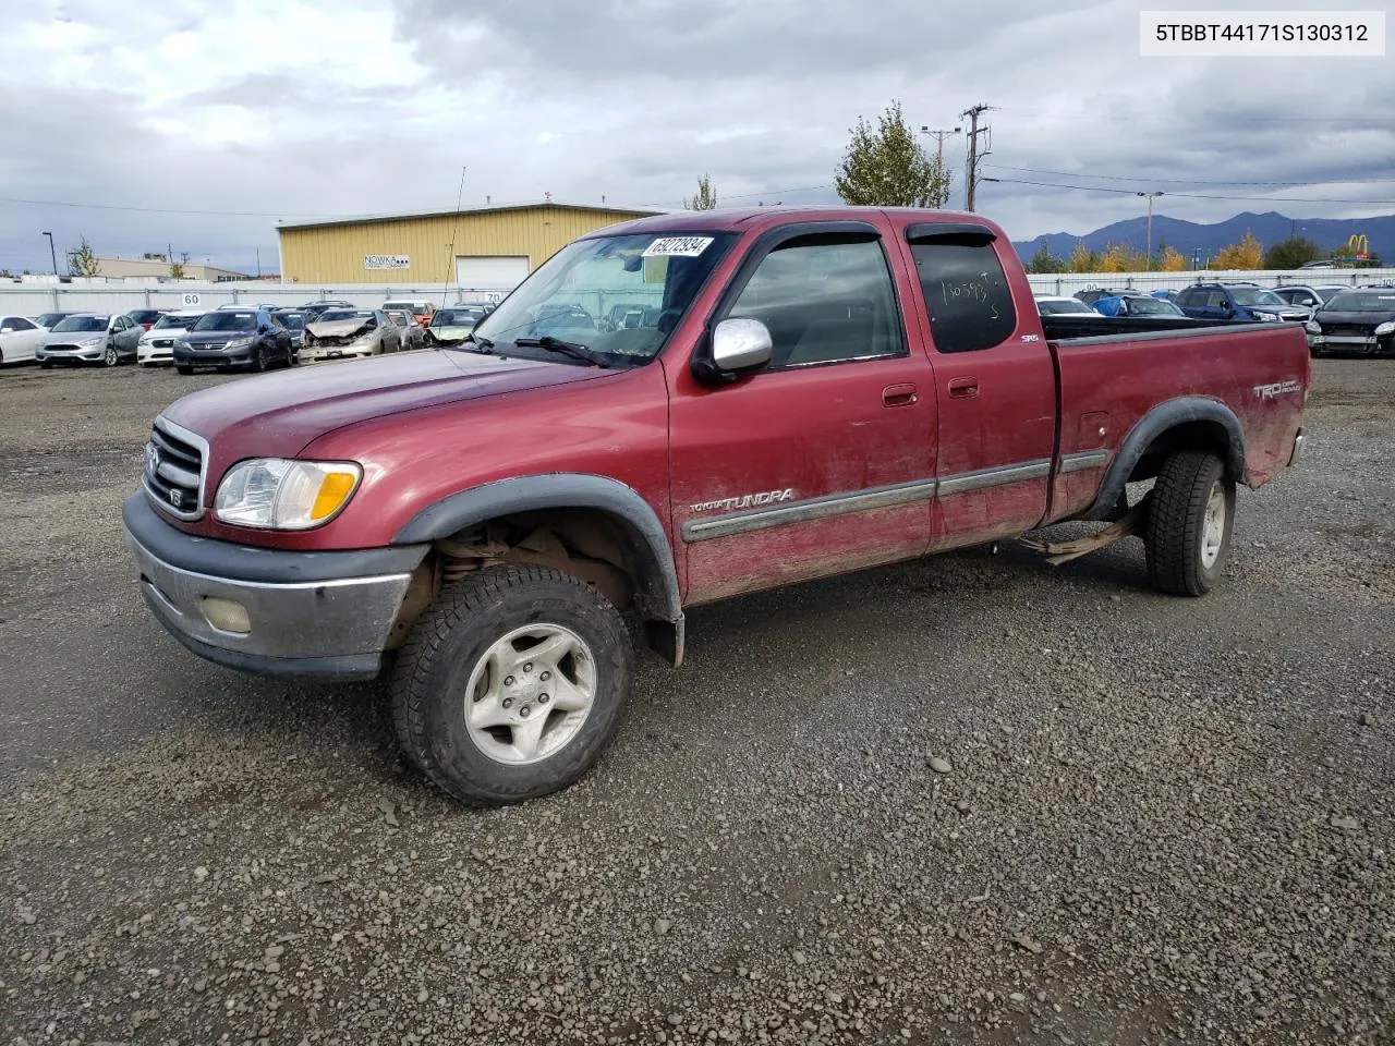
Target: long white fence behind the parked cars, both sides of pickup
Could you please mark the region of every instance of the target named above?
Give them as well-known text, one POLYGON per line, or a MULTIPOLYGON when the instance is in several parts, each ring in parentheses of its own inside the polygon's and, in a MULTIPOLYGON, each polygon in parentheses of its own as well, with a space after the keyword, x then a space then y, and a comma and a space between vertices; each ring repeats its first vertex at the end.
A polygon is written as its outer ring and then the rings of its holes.
MULTIPOLYGON (((1297 272, 1063 272, 1030 276, 1036 294, 1074 294, 1087 287, 1126 287, 1141 291, 1182 290, 1197 282, 1250 280, 1265 287, 1286 283, 1395 286, 1395 269, 1300 269, 1297 272)), ((456 287, 445 283, 353 283, 314 286, 307 283, 6 283, 0 282, 0 315, 33 317, 39 312, 73 310, 128 312, 133 308, 216 308, 257 304, 301 305, 317 298, 342 298, 361 308, 384 301, 425 298, 444 304, 456 301, 492 303, 511 287, 456 287)), ((625 297, 625 296, 622 296, 625 297)), ((631 294, 632 297, 632 294, 631 294)), ((601 308, 600 311, 604 311, 601 308)))

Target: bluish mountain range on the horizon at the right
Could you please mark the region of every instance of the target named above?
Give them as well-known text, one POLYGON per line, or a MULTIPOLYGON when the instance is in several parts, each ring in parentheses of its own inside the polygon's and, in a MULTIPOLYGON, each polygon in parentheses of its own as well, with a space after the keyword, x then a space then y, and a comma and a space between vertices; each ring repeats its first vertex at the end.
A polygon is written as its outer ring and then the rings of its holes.
MULTIPOLYGON (((1370 240, 1371 254, 1380 255, 1387 265, 1395 262, 1395 215, 1381 215, 1378 218, 1288 218, 1276 211, 1264 215, 1254 215, 1249 211, 1235 218, 1214 225, 1198 225, 1197 222, 1183 222, 1179 218, 1168 218, 1155 213, 1152 216, 1152 245, 1168 244, 1184 257, 1191 259, 1191 252, 1197 248, 1204 255, 1212 255, 1223 247, 1239 243, 1246 230, 1269 247, 1279 240, 1288 240, 1290 230, 1293 234, 1306 236, 1325 251, 1335 250, 1345 244, 1352 236, 1364 234, 1370 240)), ((1124 222, 1115 222, 1102 229, 1084 236, 1071 233, 1049 233, 1031 241, 1016 243, 1017 252, 1027 261, 1036 254, 1041 241, 1045 238, 1050 245, 1050 252, 1066 258, 1076 248, 1077 240, 1084 240, 1085 247, 1102 251, 1112 243, 1122 243, 1143 251, 1148 237, 1148 219, 1130 218, 1124 222)))

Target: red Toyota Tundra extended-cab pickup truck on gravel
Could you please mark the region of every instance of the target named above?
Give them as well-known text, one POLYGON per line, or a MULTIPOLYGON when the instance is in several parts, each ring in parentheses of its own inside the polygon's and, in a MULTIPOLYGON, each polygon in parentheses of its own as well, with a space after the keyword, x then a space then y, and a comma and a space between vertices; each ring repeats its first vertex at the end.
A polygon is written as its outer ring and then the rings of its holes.
POLYGON ((677 667, 688 607, 1060 520, 1205 593, 1309 382, 1297 325, 1043 321, 978 215, 667 215, 569 244, 458 347, 186 396, 123 515, 186 647, 391 668, 412 761, 502 803, 614 735, 626 615, 677 667))

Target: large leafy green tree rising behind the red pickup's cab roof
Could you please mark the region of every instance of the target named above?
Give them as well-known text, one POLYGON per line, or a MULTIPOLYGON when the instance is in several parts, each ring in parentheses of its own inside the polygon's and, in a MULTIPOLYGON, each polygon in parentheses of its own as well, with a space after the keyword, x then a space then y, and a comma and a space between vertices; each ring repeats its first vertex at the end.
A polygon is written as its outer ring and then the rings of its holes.
POLYGON ((930 159, 893 102, 876 127, 861 116, 843 155, 834 185, 844 204, 870 206, 944 206, 950 176, 930 159))

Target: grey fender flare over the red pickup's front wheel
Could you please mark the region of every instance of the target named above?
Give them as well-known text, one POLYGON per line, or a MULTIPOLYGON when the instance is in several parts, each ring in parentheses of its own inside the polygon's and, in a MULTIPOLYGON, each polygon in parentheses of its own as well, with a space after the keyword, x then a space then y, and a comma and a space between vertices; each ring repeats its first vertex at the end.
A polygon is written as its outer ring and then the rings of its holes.
POLYGON ((484 483, 425 506, 393 536, 392 544, 437 541, 488 519, 543 509, 600 509, 628 524, 639 537, 636 552, 644 575, 635 579, 640 609, 671 623, 682 622, 678 569, 658 515, 633 487, 605 476, 548 473, 484 483))

